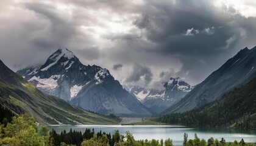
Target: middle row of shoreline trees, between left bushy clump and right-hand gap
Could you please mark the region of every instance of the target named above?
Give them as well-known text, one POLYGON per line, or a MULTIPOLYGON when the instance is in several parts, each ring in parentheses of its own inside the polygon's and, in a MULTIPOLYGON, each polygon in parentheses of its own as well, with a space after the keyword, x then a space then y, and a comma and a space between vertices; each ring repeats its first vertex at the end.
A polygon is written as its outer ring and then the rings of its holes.
POLYGON ((89 128, 85 129, 85 132, 82 134, 81 131, 73 131, 72 129, 66 133, 63 130, 61 133, 57 134, 55 130, 50 131, 49 135, 53 138, 54 145, 61 145, 61 146, 115 146, 115 145, 135 145, 135 146, 142 146, 142 145, 165 145, 165 146, 173 146, 171 139, 166 139, 160 141, 156 139, 152 139, 149 141, 140 140, 135 141, 132 134, 127 131, 126 136, 119 133, 118 130, 115 131, 113 135, 110 133, 105 133, 99 131, 98 133, 94 132, 94 129, 91 131, 89 128))

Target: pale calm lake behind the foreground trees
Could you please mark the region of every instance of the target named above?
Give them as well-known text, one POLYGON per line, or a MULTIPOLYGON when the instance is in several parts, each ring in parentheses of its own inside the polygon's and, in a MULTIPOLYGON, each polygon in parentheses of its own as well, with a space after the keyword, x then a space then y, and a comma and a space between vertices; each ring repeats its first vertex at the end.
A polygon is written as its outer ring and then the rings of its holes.
POLYGON ((140 139, 172 139, 172 143, 175 146, 182 145, 183 134, 188 133, 188 139, 194 139, 194 133, 200 139, 207 141, 210 137, 221 140, 222 137, 226 139, 226 142, 233 142, 244 139, 244 142, 256 142, 256 131, 236 131, 231 129, 210 129, 210 128, 188 128, 182 126, 122 126, 122 125, 49 125, 49 129, 52 128, 60 133, 63 130, 67 132, 72 128, 76 131, 82 131, 84 133, 85 128, 94 128, 94 131, 104 131, 105 133, 115 133, 115 130, 119 130, 120 134, 125 135, 126 131, 130 131, 136 140, 140 139))

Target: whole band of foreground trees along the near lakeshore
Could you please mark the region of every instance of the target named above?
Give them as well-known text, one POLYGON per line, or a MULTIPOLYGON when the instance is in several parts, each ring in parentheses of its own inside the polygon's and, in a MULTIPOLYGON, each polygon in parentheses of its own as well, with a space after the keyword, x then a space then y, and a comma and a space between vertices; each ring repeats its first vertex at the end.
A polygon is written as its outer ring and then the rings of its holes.
MULTIPOLYGON (((181 137, 182 138, 182 137, 181 137)), ((115 131, 115 134, 104 133, 99 131, 95 133, 94 130, 88 128, 85 132, 69 130, 62 131, 57 134, 55 130, 49 132, 48 127, 39 128, 35 122, 35 118, 29 115, 21 115, 20 117, 13 117, 12 122, 7 125, 1 124, 0 126, 0 145, 32 145, 32 146, 172 146, 172 140, 166 139, 160 141, 156 139, 140 140, 137 141, 129 131, 126 132, 126 136, 119 134, 119 131, 115 131)), ((194 139, 188 139, 188 134, 184 133, 183 146, 255 146, 255 144, 247 144, 241 139, 240 142, 234 141, 227 143, 224 138, 221 140, 213 139, 210 137, 208 141, 205 139, 199 139, 194 134, 194 139)))

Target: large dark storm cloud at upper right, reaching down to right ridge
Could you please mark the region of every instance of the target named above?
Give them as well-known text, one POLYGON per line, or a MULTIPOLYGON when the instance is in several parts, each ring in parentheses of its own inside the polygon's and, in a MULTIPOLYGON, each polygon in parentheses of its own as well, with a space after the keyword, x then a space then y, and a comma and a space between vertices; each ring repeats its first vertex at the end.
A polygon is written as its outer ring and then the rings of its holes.
POLYGON ((255 25, 247 26, 250 21, 253 24, 255 18, 232 15, 232 7, 223 10, 202 0, 146 3, 134 24, 144 30, 144 37, 156 46, 144 51, 169 57, 177 55, 182 63, 177 75, 186 77, 190 83, 202 81, 216 66, 247 46, 241 42, 244 46, 237 47, 245 33, 255 35, 255 31, 251 31, 256 30, 255 25))

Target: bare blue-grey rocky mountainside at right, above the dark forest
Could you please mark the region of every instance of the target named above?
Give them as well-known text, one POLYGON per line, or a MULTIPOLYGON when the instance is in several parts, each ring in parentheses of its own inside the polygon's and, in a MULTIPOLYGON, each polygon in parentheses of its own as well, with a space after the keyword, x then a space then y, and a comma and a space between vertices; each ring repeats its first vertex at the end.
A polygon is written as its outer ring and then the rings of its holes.
POLYGON ((233 58, 227 60, 221 68, 209 75, 204 82, 197 85, 180 102, 163 112, 179 113, 199 108, 206 103, 219 99, 225 92, 241 86, 256 77, 256 47, 240 50, 233 58))

